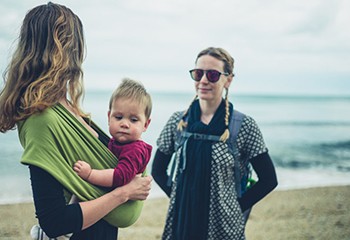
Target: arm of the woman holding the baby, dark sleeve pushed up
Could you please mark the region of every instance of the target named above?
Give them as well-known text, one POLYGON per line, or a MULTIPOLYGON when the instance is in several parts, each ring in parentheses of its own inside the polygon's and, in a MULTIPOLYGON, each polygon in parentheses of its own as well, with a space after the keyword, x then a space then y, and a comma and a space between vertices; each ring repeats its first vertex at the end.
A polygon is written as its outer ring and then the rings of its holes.
POLYGON ((63 186, 41 168, 30 166, 33 198, 39 224, 49 237, 88 228, 127 200, 144 200, 151 177, 135 177, 129 184, 92 201, 66 205, 63 186))

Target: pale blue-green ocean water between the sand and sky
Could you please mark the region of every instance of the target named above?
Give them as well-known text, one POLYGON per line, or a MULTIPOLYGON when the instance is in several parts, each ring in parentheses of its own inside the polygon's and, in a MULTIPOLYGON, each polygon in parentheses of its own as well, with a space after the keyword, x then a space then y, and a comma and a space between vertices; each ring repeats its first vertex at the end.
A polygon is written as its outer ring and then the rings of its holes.
MULTIPOLYGON (((84 109, 108 133, 112 90, 88 91, 84 109)), ((193 94, 151 92, 152 120, 143 139, 156 139, 170 115, 184 110, 193 94)), ((350 184, 350 96, 230 96, 235 109, 253 117, 277 171, 277 189, 350 184)), ((17 131, 0 134, 0 204, 32 201, 28 168, 20 164, 17 131)), ((150 166, 148 170, 150 171, 150 166)), ((165 196, 156 183, 150 197, 165 196)))

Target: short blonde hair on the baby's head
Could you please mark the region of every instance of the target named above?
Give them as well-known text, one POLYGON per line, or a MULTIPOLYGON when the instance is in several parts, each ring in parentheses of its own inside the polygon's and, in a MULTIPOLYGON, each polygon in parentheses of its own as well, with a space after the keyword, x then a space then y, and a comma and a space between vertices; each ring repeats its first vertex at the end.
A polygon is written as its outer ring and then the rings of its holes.
POLYGON ((124 78, 122 83, 112 93, 109 100, 109 110, 112 109, 113 102, 120 98, 127 98, 130 99, 130 101, 136 101, 141 106, 144 106, 146 119, 148 120, 151 117, 151 95, 147 92, 142 83, 130 78, 124 78))

